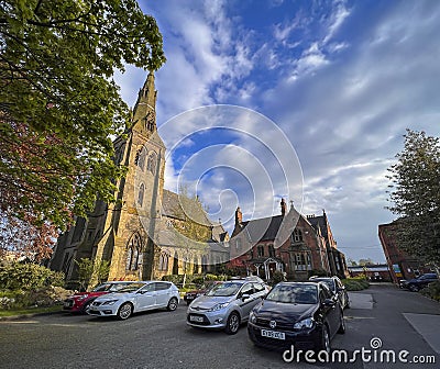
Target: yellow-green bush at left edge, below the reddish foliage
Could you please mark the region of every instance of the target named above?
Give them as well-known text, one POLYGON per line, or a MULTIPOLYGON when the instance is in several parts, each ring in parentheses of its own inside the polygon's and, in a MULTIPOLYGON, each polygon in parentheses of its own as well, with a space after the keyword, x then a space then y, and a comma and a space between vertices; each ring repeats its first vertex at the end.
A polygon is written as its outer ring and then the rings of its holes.
POLYGON ((64 273, 37 264, 13 262, 0 267, 2 290, 35 290, 48 286, 64 286, 64 273))

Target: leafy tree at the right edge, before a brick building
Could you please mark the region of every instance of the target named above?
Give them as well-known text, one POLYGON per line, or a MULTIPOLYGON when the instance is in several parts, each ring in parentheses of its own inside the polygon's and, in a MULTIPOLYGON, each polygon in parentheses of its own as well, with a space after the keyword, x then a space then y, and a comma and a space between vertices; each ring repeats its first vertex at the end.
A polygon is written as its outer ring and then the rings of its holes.
POLYGON ((440 139, 407 130, 404 150, 388 170, 388 209, 399 215, 398 247, 426 264, 440 265, 440 139))

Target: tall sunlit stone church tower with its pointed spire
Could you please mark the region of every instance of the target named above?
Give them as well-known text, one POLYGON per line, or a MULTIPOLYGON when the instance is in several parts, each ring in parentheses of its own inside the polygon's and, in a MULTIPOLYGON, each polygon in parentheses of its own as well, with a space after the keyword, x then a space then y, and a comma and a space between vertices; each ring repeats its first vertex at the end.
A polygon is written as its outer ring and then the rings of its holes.
POLYGON ((114 141, 116 158, 128 167, 118 183, 120 203, 109 208, 95 259, 111 260, 109 280, 151 279, 155 222, 164 188, 165 145, 157 134, 156 90, 150 72, 139 91, 133 124, 114 141))

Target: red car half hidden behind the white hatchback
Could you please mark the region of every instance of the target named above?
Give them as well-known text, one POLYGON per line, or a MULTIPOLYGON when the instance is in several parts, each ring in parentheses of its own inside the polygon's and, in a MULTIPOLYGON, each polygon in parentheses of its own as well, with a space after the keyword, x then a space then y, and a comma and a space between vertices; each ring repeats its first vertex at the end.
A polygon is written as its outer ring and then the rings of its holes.
POLYGON ((99 284, 90 292, 77 292, 64 301, 63 309, 72 313, 86 313, 96 298, 105 293, 117 292, 130 283, 133 283, 133 281, 106 282, 99 284))

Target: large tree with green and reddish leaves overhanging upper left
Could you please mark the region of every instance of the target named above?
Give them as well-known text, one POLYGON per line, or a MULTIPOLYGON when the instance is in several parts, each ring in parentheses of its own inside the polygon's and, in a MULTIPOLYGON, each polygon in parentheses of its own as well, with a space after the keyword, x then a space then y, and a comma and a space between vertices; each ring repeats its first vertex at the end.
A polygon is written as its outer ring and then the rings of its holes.
POLYGON ((112 75, 158 69, 162 35, 135 0, 6 0, 0 45, 0 215, 65 230, 114 201, 130 110, 112 75))

